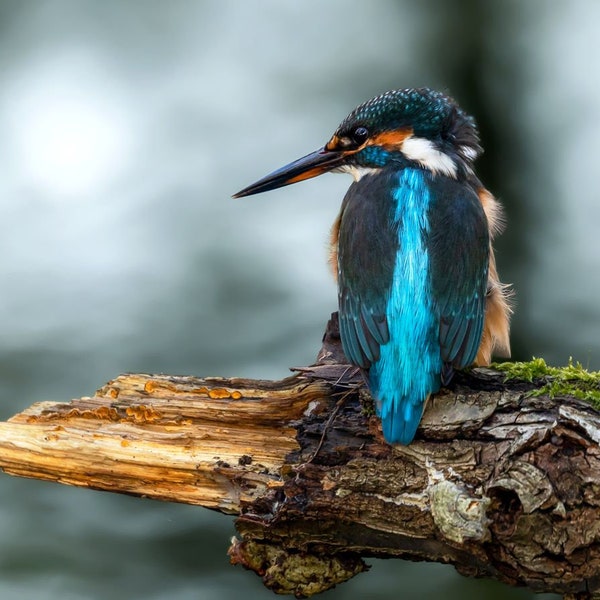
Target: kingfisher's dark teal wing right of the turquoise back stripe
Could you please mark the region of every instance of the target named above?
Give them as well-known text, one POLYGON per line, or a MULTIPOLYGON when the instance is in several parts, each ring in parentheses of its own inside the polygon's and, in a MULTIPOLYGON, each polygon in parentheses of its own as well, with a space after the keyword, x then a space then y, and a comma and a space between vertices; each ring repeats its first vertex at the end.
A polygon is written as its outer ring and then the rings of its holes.
POLYGON ((428 251, 432 297, 440 318, 442 360, 462 369, 481 342, 489 268, 489 232, 477 195, 454 181, 431 184, 428 251))

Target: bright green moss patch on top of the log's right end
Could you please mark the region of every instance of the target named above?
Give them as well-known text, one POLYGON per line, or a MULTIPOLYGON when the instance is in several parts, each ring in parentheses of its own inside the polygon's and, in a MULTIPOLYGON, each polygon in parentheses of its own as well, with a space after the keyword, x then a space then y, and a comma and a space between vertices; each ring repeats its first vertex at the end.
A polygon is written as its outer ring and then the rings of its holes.
POLYGON ((600 409, 600 372, 588 371, 581 363, 569 359, 565 367, 550 367, 543 358, 529 362, 494 363, 492 367, 506 374, 506 380, 543 383, 531 392, 534 396, 575 396, 600 409))

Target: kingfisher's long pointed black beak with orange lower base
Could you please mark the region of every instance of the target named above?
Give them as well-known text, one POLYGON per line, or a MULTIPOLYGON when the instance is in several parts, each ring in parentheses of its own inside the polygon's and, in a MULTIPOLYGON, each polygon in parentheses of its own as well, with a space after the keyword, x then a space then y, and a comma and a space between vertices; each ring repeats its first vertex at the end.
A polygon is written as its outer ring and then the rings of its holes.
POLYGON ((344 152, 335 150, 327 150, 321 148, 311 154, 295 160, 294 162, 273 171, 270 175, 259 179, 256 183, 249 185, 242 191, 234 194, 234 198, 242 198, 243 196, 251 196, 252 194, 260 194, 290 185, 297 181, 317 177, 322 173, 327 173, 336 167, 339 167, 345 158, 344 152))

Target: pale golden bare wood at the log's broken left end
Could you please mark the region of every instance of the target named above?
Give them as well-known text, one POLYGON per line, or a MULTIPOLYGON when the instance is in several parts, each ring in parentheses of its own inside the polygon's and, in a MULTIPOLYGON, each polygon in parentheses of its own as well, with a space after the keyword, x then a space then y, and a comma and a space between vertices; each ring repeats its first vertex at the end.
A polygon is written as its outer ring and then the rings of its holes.
POLYGON ((12 475, 239 514, 280 486, 299 448, 290 421, 323 386, 289 379, 121 375, 93 398, 34 404, 0 423, 12 475))

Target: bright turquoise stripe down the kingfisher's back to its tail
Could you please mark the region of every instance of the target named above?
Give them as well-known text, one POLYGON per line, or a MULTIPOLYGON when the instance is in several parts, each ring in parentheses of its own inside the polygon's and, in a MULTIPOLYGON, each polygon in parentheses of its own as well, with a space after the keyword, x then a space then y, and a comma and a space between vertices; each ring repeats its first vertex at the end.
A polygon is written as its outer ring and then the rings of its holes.
POLYGON ((404 169, 393 193, 398 255, 387 302, 390 341, 369 371, 383 434, 391 443, 412 441, 425 401, 440 388, 439 320, 429 288, 430 192, 423 171, 404 169))

